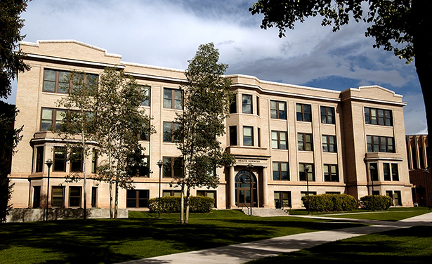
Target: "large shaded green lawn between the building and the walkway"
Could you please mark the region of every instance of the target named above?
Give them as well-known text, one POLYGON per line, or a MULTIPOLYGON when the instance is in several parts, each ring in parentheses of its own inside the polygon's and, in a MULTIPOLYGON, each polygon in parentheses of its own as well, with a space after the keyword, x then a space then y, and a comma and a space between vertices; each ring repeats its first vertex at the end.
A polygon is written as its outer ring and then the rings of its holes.
MULTIPOLYGON (((0 263, 119 263, 302 232, 354 227, 320 219, 260 218, 239 211, 178 214, 131 212, 129 219, 58 220, 0 225, 0 263)), ((333 221, 334 222, 334 221, 333 221)))

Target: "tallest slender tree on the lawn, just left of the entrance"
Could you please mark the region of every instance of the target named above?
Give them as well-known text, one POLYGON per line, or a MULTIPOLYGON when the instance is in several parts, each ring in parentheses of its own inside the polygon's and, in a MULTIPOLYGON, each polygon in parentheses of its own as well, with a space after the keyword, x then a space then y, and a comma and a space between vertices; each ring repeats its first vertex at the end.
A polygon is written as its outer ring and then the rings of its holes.
POLYGON ((184 223, 188 223, 190 189, 216 187, 216 168, 235 162, 233 155, 223 152, 218 140, 225 134, 225 119, 233 100, 231 80, 223 77, 228 65, 218 63, 218 59, 218 50, 209 43, 200 45, 195 57, 188 61, 188 82, 182 86, 184 110, 174 121, 178 125, 174 138, 183 159, 183 173, 175 180, 182 194, 186 190, 184 223))

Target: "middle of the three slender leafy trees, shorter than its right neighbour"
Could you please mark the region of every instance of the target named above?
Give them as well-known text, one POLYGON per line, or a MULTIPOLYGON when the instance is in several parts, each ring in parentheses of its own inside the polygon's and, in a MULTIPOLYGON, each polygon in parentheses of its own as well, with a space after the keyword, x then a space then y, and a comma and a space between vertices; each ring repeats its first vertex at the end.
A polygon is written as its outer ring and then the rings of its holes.
POLYGON ((99 152, 107 159, 98 166, 98 176, 110 185, 111 218, 117 218, 119 187, 133 188, 131 166, 139 165, 143 159, 145 149, 138 143, 138 137, 155 132, 150 126, 150 117, 140 108, 146 99, 145 86, 138 86, 135 79, 122 70, 105 68, 100 75, 98 92, 94 96, 95 132, 99 152), (131 160, 136 163, 131 164, 131 160))

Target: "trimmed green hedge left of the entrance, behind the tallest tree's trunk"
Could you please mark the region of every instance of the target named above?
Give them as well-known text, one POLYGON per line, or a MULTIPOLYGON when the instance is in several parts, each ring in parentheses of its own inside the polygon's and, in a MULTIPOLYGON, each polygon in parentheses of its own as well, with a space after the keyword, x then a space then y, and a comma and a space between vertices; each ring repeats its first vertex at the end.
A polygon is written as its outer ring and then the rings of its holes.
MULTIPOLYGON (((148 200, 148 209, 151 213, 159 212, 159 198, 148 200)), ((189 211, 192 213, 209 213, 214 207, 214 199, 204 196, 189 197, 189 211)), ((161 197, 161 213, 180 213, 181 197, 161 197)))

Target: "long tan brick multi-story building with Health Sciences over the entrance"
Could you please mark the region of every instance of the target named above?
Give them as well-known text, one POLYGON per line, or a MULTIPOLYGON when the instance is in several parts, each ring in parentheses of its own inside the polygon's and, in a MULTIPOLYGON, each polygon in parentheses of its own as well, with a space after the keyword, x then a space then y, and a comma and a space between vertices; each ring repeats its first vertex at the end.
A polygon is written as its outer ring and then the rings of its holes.
MULTIPOLYGON (((15 208, 46 204, 46 159, 54 162, 50 206, 82 206, 82 180, 65 181, 79 165, 65 159, 63 144, 48 128, 61 123, 63 110, 56 102, 66 96, 63 75, 78 70, 95 80, 105 67, 124 70, 138 84, 150 87, 150 100, 142 107, 154 118, 157 131, 140 141, 148 155, 148 169, 133 177, 135 190, 120 191, 119 207, 145 208, 149 198, 158 196, 159 160, 166 167, 162 194, 180 195, 178 188, 170 186, 176 173, 174 157, 180 152, 169 134, 176 112, 182 111, 183 70, 123 62, 120 55, 79 41, 22 42, 20 48, 32 69, 18 76, 20 114, 15 124, 24 125, 24 131, 9 176, 15 183, 11 200, 15 208)), ((236 163, 216 171, 220 176, 216 189, 197 187, 192 195, 214 197, 218 209, 250 204, 301 208, 308 185, 310 194, 345 193, 360 199, 373 192, 391 195, 395 205, 412 206, 401 95, 379 86, 332 91, 245 75, 227 77, 236 95, 226 119, 226 135, 220 140, 236 163)), ((87 171, 95 172, 98 160, 87 159, 87 171)), ((89 180, 87 186, 87 207, 107 208, 107 183, 89 180)))

